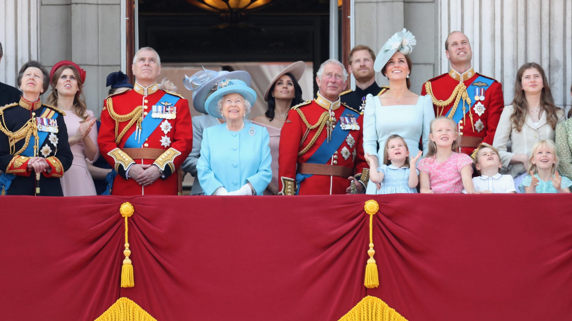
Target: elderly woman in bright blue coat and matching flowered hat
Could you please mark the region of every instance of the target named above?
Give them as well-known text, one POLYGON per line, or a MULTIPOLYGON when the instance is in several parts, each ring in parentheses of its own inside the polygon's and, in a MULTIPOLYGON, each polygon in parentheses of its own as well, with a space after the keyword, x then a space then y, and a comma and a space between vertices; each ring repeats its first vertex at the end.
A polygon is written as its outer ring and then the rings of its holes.
POLYGON ((222 79, 206 111, 227 122, 204 129, 197 176, 205 195, 263 195, 272 179, 268 130, 245 124, 256 93, 242 80, 222 79))

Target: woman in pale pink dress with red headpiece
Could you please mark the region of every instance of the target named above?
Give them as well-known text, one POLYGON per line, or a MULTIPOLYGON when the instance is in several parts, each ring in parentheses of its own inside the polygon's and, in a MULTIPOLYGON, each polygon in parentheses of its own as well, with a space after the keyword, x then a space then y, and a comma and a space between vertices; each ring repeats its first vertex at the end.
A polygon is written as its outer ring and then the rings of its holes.
POLYGON ((86 109, 82 98, 85 70, 72 61, 63 60, 51 68, 52 92, 47 104, 57 106, 66 112, 68 142, 72 148, 72 167, 61 178, 63 196, 97 195, 88 164, 99 156, 97 146, 96 117, 86 109))

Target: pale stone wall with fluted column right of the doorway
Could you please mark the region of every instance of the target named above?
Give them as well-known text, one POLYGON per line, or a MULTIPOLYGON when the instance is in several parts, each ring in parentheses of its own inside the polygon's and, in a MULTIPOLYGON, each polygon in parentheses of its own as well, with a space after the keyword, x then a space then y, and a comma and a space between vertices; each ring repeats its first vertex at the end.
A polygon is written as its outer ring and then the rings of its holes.
POLYGON ((403 27, 415 35, 411 90, 416 93, 424 81, 448 71, 444 42, 460 30, 471 42, 475 70, 502 83, 505 104, 513 99, 518 68, 531 61, 545 69, 555 103, 572 104, 572 0, 353 1, 356 45, 377 52, 403 27))

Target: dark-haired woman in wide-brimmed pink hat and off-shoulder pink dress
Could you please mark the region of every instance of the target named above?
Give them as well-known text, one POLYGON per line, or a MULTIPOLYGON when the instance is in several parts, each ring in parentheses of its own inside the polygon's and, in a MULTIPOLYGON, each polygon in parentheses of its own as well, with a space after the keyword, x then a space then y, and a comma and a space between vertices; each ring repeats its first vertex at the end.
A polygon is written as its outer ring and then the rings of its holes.
POLYGON ((270 154, 272 156, 272 181, 268 185, 264 195, 276 195, 278 193, 278 146, 280 145, 280 130, 284 126, 288 111, 301 102, 302 88, 298 81, 304 73, 306 65, 303 61, 297 61, 289 65, 279 73, 271 82, 264 100, 268 101, 268 109, 263 116, 255 117, 253 124, 264 126, 270 134, 270 154))

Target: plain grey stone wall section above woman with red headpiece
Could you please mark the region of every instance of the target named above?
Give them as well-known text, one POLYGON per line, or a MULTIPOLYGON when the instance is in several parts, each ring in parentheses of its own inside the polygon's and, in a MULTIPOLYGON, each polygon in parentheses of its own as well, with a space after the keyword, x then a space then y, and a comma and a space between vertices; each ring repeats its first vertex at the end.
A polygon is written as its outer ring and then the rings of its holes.
POLYGON ((98 117, 106 77, 121 69, 121 1, 42 0, 40 12, 42 63, 72 60, 85 69, 86 103, 98 117))

